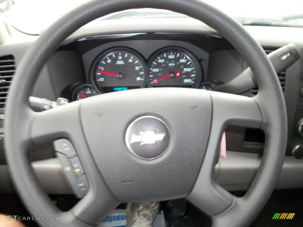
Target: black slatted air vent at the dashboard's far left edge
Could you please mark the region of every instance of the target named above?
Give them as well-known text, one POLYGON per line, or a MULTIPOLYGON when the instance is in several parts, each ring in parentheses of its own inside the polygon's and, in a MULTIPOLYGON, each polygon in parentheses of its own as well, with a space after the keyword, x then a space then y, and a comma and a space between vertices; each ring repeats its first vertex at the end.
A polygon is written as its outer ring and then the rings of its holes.
POLYGON ((15 74, 13 55, 0 57, 0 113, 4 113, 8 89, 15 74))

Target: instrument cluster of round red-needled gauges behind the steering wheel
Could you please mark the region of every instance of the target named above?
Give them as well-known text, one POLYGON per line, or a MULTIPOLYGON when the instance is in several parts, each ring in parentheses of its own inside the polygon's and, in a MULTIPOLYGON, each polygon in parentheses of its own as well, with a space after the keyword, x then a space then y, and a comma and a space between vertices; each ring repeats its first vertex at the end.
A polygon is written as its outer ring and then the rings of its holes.
POLYGON ((95 58, 90 69, 91 84, 75 87, 73 100, 142 87, 213 89, 214 81, 201 84, 202 72, 198 59, 184 48, 161 48, 147 60, 130 48, 110 48, 95 58))

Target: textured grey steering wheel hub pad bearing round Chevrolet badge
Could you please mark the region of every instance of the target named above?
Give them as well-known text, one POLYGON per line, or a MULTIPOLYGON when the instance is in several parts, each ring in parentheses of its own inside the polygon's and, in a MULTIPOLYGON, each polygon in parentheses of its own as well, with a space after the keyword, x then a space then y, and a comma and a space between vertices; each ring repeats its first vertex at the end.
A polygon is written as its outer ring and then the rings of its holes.
POLYGON ((132 89, 82 100, 85 139, 114 196, 144 202, 188 195, 207 148, 211 105, 208 93, 189 88, 132 89))

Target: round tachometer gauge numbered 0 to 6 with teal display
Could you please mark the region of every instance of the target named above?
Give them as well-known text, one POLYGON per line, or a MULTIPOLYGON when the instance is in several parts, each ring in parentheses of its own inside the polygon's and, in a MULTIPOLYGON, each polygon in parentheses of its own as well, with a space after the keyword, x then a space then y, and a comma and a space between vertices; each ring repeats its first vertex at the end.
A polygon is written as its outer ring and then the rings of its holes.
POLYGON ((146 65, 136 52, 120 48, 97 58, 94 74, 95 83, 103 93, 129 90, 145 84, 146 65))

